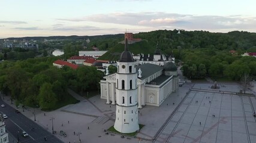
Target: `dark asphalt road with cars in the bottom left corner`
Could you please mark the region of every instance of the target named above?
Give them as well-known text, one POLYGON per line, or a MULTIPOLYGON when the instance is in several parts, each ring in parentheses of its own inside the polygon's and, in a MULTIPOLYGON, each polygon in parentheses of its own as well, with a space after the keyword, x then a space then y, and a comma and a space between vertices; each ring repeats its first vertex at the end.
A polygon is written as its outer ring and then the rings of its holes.
POLYGON ((7 119, 4 119, 6 125, 5 128, 7 129, 7 132, 15 136, 16 139, 19 138, 20 143, 63 143, 52 133, 37 125, 33 120, 24 116, 22 113, 16 113, 16 109, 0 100, 0 105, 2 104, 4 104, 5 107, 0 107, 0 114, 6 114, 8 116, 7 119), (34 128, 34 131, 31 130, 32 128, 34 128), (22 136, 23 131, 28 133, 27 137, 22 136), (46 136, 47 141, 44 140, 44 136, 46 136))

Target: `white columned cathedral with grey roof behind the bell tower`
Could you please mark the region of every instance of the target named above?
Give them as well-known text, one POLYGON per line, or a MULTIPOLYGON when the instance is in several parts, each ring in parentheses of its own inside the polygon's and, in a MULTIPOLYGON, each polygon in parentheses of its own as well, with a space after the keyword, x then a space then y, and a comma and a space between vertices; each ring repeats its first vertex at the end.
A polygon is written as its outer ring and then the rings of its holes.
MULTIPOLYGON (((127 47, 125 43, 125 47, 127 47)), ((155 53, 155 55, 158 53, 155 53)), ((123 55, 121 55, 122 58, 123 55)), ((129 67, 130 68, 130 67, 129 67)), ((135 88, 137 91, 138 108, 144 105, 160 106, 164 100, 176 92, 179 86, 179 75, 177 74, 177 67, 171 60, 164 61, 164 64, 151 64, 151 63, 136 63, 131 67, 132 71, 136 70, 137 79, 135 88)), ((101 80, 101 99, 107 100, 107 104, 115 105, 119 93, 118 79, 121 74, 122 65, 118 64, 118 72, 104 76, 101 80)), ((129 70, 129 69, 128 69, 129 70)), ((128 74, 131 74, 128 72, 128 74)), ((134 73, 132 73, 134 74, 134 73)), ((121 84, 121 83, 119 83, 121 84)))

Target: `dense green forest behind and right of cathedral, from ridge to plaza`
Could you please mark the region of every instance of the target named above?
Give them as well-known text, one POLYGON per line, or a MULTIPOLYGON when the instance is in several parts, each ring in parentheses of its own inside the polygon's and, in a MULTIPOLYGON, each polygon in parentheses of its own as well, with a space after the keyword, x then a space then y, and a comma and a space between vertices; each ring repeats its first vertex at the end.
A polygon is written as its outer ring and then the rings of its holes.
MULTIPOLYGON (((240 80, 244 73, 256 76, 256 58, 242 57, 244 52, 256 52, 256 33, 228 32, 210 33, 206 31, 188 32, 181 30, 156 30, 134 34, 134 38, 146 41, 132 43, 129 50, 134 54, 153 54, 156 43, 163 54, 173 55, 176 63, 183 63, 183 74, 189 79, 240 80), (145 50, 145 48, 147 50, 145 50), (231 54, 230 51, 236 53, 231 54)), ((118 43, 101 58, 116 60, 122 44, 118 43)))

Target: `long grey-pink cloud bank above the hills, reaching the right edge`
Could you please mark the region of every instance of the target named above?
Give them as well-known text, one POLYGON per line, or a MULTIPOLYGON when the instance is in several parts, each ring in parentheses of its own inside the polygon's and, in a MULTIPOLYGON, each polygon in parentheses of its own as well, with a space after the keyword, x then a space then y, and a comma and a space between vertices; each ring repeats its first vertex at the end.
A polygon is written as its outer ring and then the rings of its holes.
POLYGON ((221 32, 227 32, 230 29, 251 30, 255 29, 256 25, 256 17, 245 17, 243 15, 218 16, 152 12, 94 14, 85 17, 59 18, 56 20, 59 22, 68 21, 70 23, 119 24, 125 28, 131 26, 148 27, 148 29, 220 30, 221 32))

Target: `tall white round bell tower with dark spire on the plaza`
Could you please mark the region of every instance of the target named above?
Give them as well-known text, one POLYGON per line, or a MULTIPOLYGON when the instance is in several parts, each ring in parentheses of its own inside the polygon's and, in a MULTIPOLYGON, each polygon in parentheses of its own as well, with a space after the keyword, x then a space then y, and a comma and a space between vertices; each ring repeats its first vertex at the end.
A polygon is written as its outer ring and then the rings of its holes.
POLYGON ((128 51, 122 52, 116 73, 116 120, 114 128, 121 133, 131 133, 139 129, 137 112, 137 71, 136 64, 128 51))

